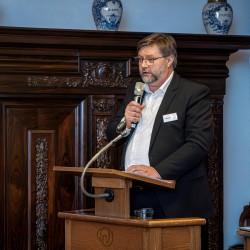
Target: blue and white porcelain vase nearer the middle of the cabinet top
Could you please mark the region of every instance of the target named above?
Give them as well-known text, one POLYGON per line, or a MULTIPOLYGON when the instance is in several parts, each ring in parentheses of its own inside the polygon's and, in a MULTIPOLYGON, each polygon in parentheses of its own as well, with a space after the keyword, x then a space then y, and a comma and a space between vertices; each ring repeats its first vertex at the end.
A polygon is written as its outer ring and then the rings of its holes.
POLYGON ((122 18, 120 0, 94 0, 92 14, 97 30, 118 30, 122 18))

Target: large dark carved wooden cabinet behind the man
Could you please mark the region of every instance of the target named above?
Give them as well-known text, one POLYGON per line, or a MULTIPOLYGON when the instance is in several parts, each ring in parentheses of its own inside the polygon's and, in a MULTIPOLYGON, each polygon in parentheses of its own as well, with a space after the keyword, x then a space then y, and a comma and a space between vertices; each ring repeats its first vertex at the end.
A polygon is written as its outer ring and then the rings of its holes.
MULTIPOLYGON (((0 248, 63 249, 59 211, 90 208, 76 177, 52 167, 84 166, 106 143, 105 129, 126 86, 139 79, 137 42, 147 33, 0 27, 0 248)), ((247 36, 173 34, 177 71, 212 91, 215 137, 208 174, 215 216, 208 249, 222 249, 222 114, 226 62, 247 36)), ((94 167, 119 166, 122 148, 94 167)))

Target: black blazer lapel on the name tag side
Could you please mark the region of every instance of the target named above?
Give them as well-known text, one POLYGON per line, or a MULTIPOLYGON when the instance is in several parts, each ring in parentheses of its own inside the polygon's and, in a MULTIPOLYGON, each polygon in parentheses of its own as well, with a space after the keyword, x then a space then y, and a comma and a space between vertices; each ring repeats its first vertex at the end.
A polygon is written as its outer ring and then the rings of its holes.
POLYGON ((155 122, 154 122, 154 126, 153 126, 153 130, 152 130, 152 135, 151 135, 151 139, 150 139, 150 146, 149 146, 149 150, 151 149, 154 140, 156 138, 156 135, 160 129, 160 126, 163 122, 163 115, 167 113, 167 110, 169 108, 169 105, 171 104, 172 100, 174 99, 175 95, 176 95, 176 89, 178 88, 178 84, 179 84, 179 75, 174 73, 173 79, 170 83, 170 85, 168 86, 168 89, 162 99, 162 103, 159 107, 159 110, 157 112, 156 118, 155 118, 155 122))

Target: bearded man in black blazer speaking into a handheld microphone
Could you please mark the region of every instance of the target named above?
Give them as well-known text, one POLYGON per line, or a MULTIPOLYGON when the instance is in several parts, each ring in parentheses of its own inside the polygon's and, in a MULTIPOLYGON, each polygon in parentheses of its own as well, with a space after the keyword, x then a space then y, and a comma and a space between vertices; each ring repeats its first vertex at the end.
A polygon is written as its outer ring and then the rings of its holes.
POLYGON ((132 212, 151 207, 154 218, 210 217, 204 162, 213 140, 209 88, 174 71, 177 52, 172 36, 149 35, 138 43, 137 52, 143 102, 134 101, 135 84, 129 86, 107 137, 116 137, 117 125, 124 121, 130 135, 120 141, 126 142, 122 170, 173 179, 176 188, 132 188, 132 212))

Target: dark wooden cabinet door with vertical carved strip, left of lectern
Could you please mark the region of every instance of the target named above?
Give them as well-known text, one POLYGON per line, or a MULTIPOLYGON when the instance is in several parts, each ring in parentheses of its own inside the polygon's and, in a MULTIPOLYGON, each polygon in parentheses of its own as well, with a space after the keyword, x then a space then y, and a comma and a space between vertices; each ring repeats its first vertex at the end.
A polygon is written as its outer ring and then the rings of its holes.
MULTIPOLYGON (((55 230, 60 224, 57 212, 75 208, 74 178, 54 184, 52 168, 79 165, 84 157, 79 143, 82 102, 44 99, 2 102, 8 229, 5 249, 64 247, 64 237, 61 240, 55 230)), ((64 236, 63 228, 60 231, 64 236)))

